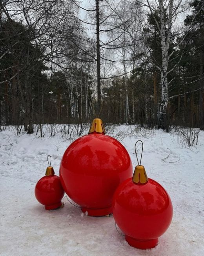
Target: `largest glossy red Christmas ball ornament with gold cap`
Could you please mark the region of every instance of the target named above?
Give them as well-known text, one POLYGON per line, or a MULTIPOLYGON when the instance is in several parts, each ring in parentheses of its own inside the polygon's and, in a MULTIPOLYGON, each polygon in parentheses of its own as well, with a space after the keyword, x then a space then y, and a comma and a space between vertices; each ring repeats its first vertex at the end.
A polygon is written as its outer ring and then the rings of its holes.
POLYGON ((132 173, 127 150, 105 135, 101 119, 94 119, 89 134, 67 148, 60 164, 65 192, 91 216, 112 213, 115 189, 132 173))

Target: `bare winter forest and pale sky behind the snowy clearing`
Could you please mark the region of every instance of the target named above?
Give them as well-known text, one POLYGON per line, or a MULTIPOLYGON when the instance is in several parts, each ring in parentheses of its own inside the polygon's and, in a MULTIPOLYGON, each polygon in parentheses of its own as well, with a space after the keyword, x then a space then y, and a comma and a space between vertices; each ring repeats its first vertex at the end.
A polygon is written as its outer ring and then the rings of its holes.
POLYGON ((204 129, 204 0, 0 0, 0 130, 204 129), (82 15, 83 14, 83 15, 82 15))

